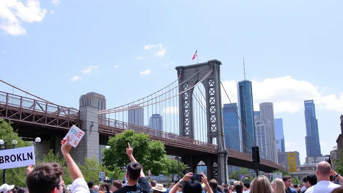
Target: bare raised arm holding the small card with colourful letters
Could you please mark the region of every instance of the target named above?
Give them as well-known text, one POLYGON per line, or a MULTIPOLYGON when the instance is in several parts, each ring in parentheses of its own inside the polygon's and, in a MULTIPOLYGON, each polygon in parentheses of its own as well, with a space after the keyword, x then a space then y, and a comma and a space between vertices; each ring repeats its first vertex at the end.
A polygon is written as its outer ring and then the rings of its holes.
POLYGON ((72 178, 73 181, 77 178, 84 179, 80 168, 77 166, 72 156, 70 156, 70 150, 72 149, 72 146, 69 144, 68 141, 69 141, 69 136, 67 137, 67 139, 63 139, 61 141, 61 145, 62 145, 61 151, 62 151, 63 156, 66 159, 70 177, 72 178))

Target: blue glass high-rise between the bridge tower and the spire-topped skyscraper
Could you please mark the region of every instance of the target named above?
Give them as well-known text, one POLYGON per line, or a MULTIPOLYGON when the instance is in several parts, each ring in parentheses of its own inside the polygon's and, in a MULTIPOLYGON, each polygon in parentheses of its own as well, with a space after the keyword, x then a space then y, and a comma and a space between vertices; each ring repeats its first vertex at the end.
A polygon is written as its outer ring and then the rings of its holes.
POLYGON ((237 103, 231 104, 224 104, 222 108, 223 111, 223 126, 224 126, 224 140, 226 148, 234 149, 237 151, 241 151, 241 135, 239 129, 239 119, 236 114, 238 113, 238 106, 237 103), (236 112, 235 112, 236 111, 236 112), (230 128, 229 128, 230 126, 230 128))

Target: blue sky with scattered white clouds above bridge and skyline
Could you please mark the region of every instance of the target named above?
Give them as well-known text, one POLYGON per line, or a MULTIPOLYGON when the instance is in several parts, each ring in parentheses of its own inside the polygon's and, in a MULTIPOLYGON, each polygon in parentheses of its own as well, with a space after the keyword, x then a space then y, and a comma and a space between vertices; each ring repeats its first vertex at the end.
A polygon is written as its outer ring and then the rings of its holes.
POLYGON ((221 80, 237 102, 244 56, 255 107, 274 103, 287 151, 305 161, 305 99, 316 103, 322 153, 336 144, 342 1, 38 3, 0 2, 0 78, 10 83, 68 107, 95 91, 115 107, 173 82, 174 67, 191 64, 198 48, 199 62, 222 62, 221 80))

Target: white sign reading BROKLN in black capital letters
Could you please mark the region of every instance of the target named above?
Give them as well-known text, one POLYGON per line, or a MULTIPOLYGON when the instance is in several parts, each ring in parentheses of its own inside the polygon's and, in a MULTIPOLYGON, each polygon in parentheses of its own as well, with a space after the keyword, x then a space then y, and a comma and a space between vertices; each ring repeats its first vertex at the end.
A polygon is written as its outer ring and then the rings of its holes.
POLYGON ((0 169, 25 167, 36 164, 34 147, 21 147, 0 151, 0 169))

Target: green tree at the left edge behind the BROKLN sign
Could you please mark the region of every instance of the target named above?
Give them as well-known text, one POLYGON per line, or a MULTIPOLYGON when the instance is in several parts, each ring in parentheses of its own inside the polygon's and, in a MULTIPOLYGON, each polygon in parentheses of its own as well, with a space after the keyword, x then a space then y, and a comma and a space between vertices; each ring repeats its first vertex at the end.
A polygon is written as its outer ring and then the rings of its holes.
MULTIPOLYGON (((10 122, 0 119, 0 139, 7 142, 7 148, 13 148, 12 141, 17 140, 18 144, 16 147, 27 147, 31 146, 32 143, 29 141, 23 141, 16 133, 10 122)), ((3 174, 3 170, 0 170, 0 174, 3 174)), ((25 186, 26 182, 26 167, 17 167, 6 169, 6 183, 16 184, 25 186)), ((3 175, 0 175, 0 181, 3 181, 3 175)))

